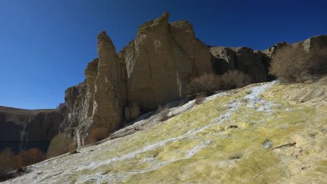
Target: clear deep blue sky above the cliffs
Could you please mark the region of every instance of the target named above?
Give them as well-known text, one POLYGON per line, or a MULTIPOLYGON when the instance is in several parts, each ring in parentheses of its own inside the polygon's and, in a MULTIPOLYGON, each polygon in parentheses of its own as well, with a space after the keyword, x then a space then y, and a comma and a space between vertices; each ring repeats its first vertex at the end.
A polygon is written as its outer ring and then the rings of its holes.
POLYGON ((82 82, 107 31, 117 52, 138 26, 170 11, 207 45, 267 49, 327 34, 327 1, 0 0, 0 105, 55 108, 82 82))

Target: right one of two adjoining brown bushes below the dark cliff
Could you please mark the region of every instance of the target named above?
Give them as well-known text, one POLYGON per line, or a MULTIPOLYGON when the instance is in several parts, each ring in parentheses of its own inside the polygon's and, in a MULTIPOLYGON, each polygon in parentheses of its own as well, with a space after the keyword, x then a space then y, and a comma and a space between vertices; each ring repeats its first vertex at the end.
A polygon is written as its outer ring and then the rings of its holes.
POLYGON ((252 84, 252 77, 240 70, 229 70, 221 75, 221 89, 236 89, 252 84))

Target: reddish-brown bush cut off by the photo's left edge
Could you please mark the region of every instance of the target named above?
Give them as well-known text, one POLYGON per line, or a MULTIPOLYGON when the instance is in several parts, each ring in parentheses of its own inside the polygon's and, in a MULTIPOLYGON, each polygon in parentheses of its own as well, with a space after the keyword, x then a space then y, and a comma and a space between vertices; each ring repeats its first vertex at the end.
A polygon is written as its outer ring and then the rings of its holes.
POLYGON ((13 176, 10 171, 20 168, 13 152, 6 148, 0 152, 0 181, 6 181, 13 176))

